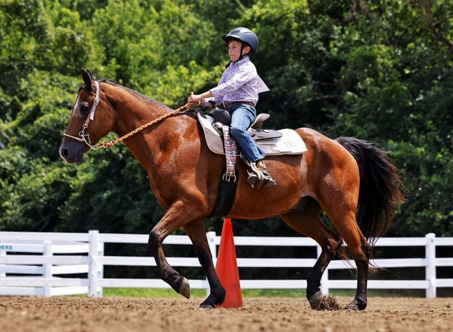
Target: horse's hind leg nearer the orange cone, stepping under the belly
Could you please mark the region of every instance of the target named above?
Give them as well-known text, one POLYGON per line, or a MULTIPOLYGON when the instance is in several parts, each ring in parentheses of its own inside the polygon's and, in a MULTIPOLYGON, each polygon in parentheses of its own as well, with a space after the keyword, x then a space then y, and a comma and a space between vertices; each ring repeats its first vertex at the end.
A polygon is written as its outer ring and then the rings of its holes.
POLYGON ((341 246, 341 239, 330 228, 328 228, 319 218, 321 208, 314 200, 309 201, 303 212, 288 212, 282 214, 281 217, 285 223, 290 225, 297 232, 311 237, 319 243, 322 248, 321 255, 310 270, 307 276, 307 299, 310 306, 314 309, 319 306, 321 298, 321 277, 326 270, 328 264, 335 256, 335 252, 341 246))

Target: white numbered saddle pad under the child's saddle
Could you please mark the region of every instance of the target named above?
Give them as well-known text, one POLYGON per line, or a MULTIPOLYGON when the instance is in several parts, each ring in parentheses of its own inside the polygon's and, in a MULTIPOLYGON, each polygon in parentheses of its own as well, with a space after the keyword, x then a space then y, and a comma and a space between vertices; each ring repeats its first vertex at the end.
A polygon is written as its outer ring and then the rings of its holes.
MULTIPOLYGON (((225 154, 222 136, 213 127, 214 118, 197 113, 199 123, 202 125, 204 138, 208 148, 215 154, 225 154)), ((282 154, 303 154, 307 151, 301 136, 292 129, 280 129, 282 133, 279 138, 255 141, 258 147, 266 152, 267 156, 280 156, 282 154)))

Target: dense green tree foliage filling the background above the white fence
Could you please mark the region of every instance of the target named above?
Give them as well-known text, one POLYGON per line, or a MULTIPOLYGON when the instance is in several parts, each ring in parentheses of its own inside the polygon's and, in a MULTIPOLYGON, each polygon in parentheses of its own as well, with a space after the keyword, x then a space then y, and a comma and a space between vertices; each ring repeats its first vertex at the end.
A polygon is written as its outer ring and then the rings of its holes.
MULTIPOLYGON (((124 146, 57 154, 80 68, 177 107, 247 26, 270 127, 376 142, 404 174, 391 235, 453 236, 452 1, 0 1, 0 230, 148 232, 163 210, 124 146)), ((218 222, 207 223, 220 232, 218 222)), ((276 219, 237 234, 294 234, 276 219)))

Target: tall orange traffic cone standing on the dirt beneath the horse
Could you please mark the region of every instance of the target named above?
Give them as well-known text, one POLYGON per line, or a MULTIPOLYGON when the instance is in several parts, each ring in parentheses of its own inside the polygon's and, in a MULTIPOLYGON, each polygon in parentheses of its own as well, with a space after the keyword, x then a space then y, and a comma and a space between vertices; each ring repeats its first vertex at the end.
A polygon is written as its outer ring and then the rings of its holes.
POLYGON ((226 292, 224 302, 218 306, 222 306, 223 308, 238 308, 242 306, 233 227, 229 218, 225 218, 223 222, 215 271, 220 279, 220 284, 222 284, 226 292))

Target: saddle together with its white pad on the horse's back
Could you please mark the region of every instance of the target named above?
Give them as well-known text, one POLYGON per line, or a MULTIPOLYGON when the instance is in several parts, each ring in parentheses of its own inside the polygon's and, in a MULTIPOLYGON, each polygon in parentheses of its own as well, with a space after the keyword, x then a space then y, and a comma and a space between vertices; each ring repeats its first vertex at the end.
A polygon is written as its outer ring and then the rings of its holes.
MULTIPOLYGON (((267 113, 258 114, 248 130, 256 145, 263 149, 267 156, 303 154, 307 151, 301 136, 292 129, 262 129, 263 122, 269 117, 267 113)), ((213 109, 208 115, 197 113, 197 118, 202 126, 208 148, 215 154, 224 155, 222 130, 219 128, 222 127, 222 124, 229 126, 231 122, 229 113, 222 109, 213 109)))

